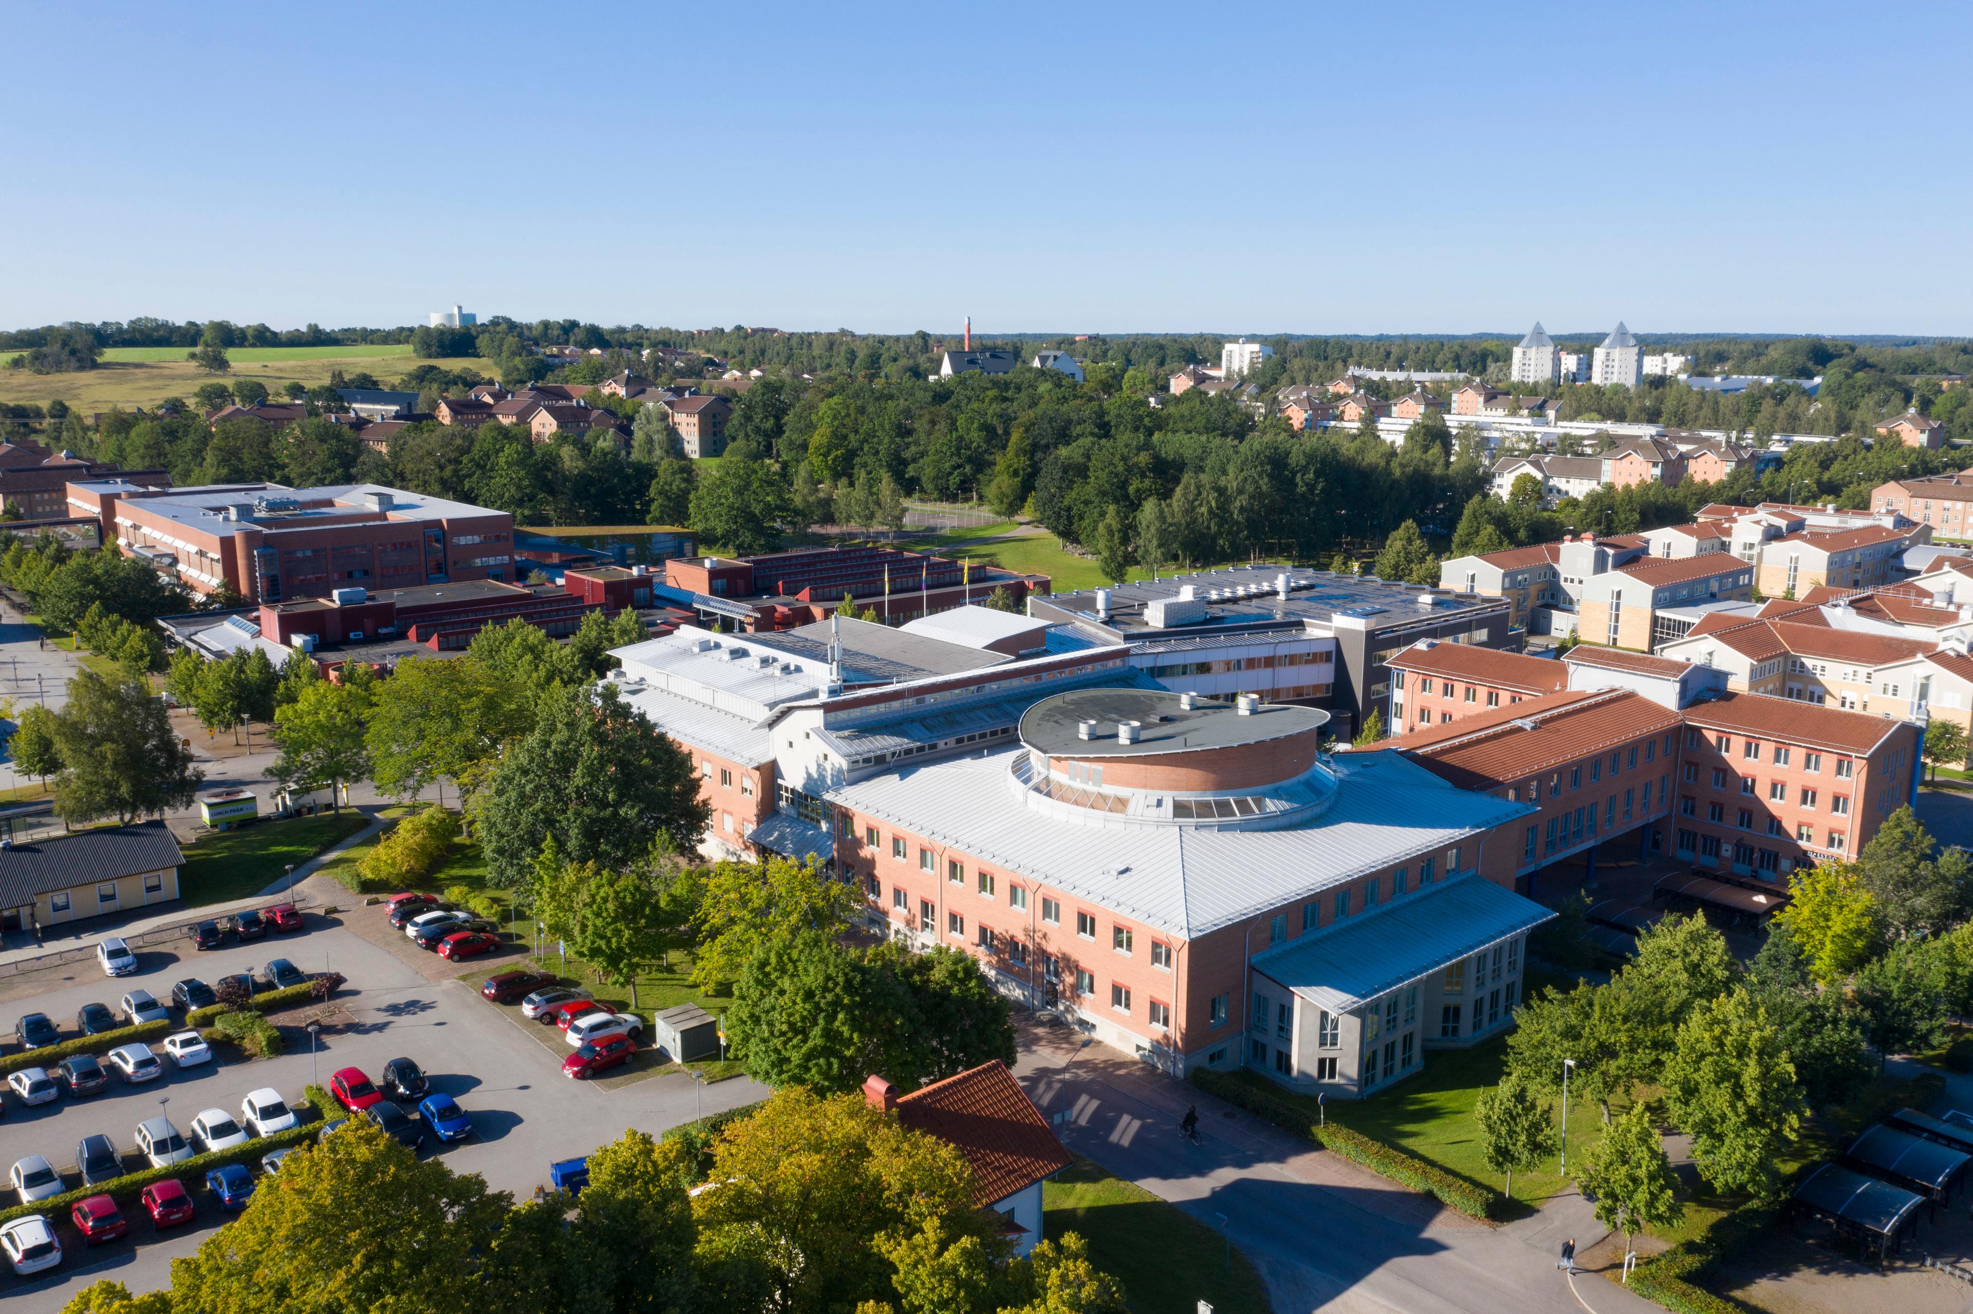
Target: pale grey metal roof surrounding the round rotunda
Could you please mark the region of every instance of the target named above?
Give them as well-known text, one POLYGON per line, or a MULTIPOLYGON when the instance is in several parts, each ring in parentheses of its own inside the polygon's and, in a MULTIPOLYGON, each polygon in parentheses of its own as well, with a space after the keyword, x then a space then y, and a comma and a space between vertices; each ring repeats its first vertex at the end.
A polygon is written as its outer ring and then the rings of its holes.
POLYGON ((1332 803, 1298 827, 1101 825, 1028 807, 1010 779, 1014 758, 986 752, 892 767, 827 797, 1186 937, 1450 848, 1531 811, 1454 789, 1401 754, 1357 752, 1338 764, 1332 803))

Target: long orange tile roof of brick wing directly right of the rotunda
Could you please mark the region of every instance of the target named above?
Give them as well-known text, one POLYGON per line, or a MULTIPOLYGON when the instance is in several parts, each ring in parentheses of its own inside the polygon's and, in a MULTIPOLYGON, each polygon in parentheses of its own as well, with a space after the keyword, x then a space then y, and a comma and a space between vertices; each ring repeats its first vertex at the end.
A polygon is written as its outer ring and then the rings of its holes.
POLYGON ((1395 748, 1450 785, 1498 789, 1679 726, 1677 712, 1630 689, 1549 694, 1501 710, 1501 720, 1472 716, 1395 748))

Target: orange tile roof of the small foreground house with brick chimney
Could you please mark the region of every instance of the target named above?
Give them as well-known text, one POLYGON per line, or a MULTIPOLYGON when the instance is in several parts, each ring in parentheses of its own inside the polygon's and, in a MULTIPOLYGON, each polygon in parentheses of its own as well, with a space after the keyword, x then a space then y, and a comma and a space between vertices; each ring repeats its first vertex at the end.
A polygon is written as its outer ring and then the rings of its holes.
POLYGON ((951 1144, 973 1166, 973 1200, 1006 1200, 1073 1162, 1014 1073, 998 1059, 912 1091, 896 1105, 912 1131, 951 1144))

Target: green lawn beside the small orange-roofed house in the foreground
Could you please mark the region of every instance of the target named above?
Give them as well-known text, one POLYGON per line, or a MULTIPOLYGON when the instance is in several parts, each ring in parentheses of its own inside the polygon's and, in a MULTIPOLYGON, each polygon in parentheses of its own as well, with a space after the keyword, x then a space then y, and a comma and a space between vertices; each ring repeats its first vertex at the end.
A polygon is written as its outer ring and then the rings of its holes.
POLYGON ((1245 1255, 1178 1205, 1113 1178, 1085 1158, 1042 1184, 1042 1233, 1077 1231, 1097 1269, 1123 1282, 1136 1314, 1267 1314, 1267 1286, 1245 1255))

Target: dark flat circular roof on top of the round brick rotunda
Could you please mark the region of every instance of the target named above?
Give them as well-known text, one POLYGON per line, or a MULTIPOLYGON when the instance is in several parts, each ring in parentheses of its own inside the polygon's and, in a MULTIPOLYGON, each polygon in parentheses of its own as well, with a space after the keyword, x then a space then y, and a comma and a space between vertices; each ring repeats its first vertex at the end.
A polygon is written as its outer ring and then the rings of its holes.
POLYGON ((1164 689, 1075 689, 1042 698, 1020 718, 1020 740, 1044 754, 1075 758, 1138 758, 1198 752, 1279 740, 1328 724, 1330 714, 1312 706, 1265 702, 1241 716, 1231 702, 1200 698, 1192 708, 1164 689), (1077 726, 1093 720, 1095 736, 1079 738, 1077 726), (1117 724, 1138 722, 1138 742, 1117 738, 1117 724))

